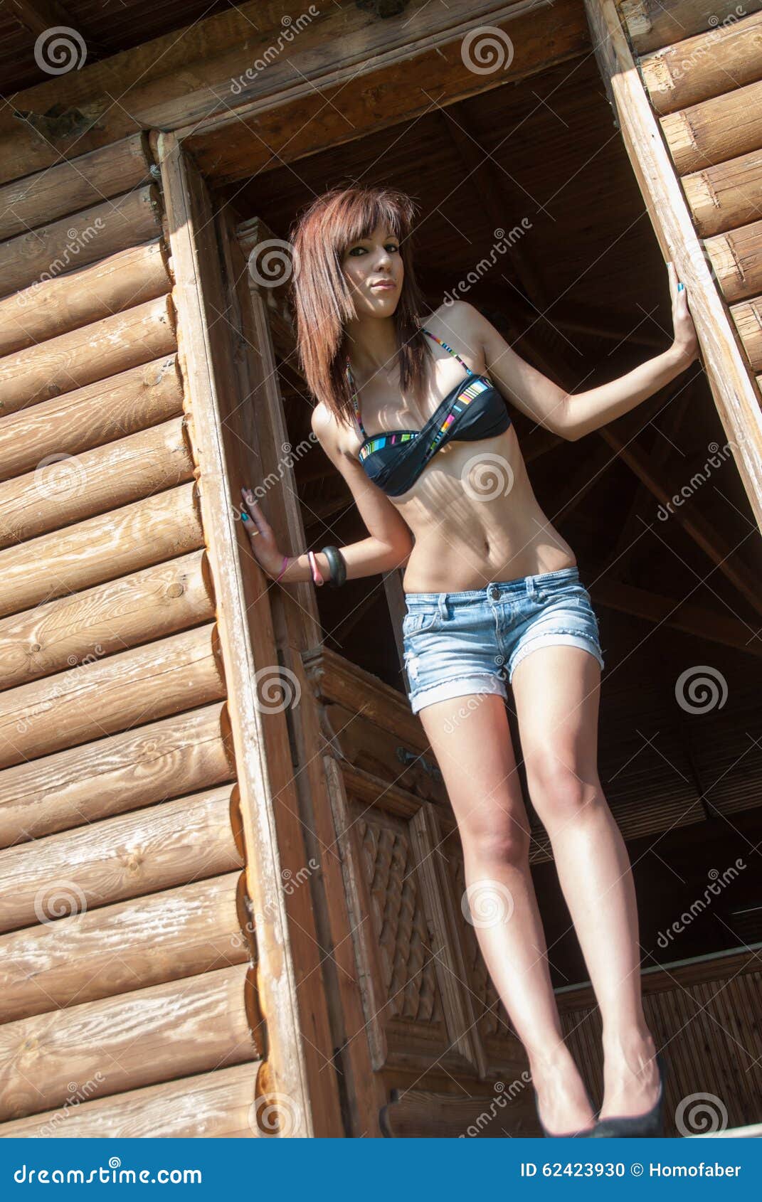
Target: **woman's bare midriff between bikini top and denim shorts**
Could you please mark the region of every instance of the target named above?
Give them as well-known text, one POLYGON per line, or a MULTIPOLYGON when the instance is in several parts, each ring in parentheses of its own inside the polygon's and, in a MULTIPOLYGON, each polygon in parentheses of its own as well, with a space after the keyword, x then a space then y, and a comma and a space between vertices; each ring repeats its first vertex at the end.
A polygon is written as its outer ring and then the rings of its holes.
POLYGON ((537 504, 513 426, 440 447, 413 487, 391 500, 415 537, 405 593, 483 589, 577 563, 537 504))

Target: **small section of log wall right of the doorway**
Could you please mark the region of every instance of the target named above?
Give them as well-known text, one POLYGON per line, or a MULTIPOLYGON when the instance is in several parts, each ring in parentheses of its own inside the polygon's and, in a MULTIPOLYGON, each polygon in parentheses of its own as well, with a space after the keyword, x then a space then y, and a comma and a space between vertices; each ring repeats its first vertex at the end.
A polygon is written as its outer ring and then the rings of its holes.
POLYGON ((762 2, 619 8, 706 262, 762 387, 762 2))

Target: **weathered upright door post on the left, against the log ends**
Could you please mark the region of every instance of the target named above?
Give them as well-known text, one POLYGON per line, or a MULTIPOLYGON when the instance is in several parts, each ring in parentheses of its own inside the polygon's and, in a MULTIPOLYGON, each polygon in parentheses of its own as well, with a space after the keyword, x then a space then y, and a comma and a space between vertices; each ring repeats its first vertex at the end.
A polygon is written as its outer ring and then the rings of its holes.
POLYGON ((209 320, 212 297, 220 291, 213 215, 203 182, 172 133, 159 136, 157 156, 177 280, 180 362, 201 453, 201 507, 240 789, 246 887, 257 915, 257 984, 267 1020, 268 1079, 288 1100, 290 1133, 337 1135, 341 1123, 334 1072, 329 1057, 319 1051, 327 1031, 309 893, 294 889, 287 898, 282 889, 282 868, 294 857, 303 863, 303 843, 285 713, 266 715, 257 696, 257 668, 278 659, 267 590, 254 602, 255 620, 248 609, 238 549, 239 538, 246 536, 234 523, 238 498, 225 451, 230 438, 225 421, 238 398, 230 394, 233 382, 226 375, 225 356, 220 367, 221 349, 214 343, 224 332, 218 323, 215 334, 209 320), (312 968, 317 971, 311 986, 305 986, 312 968))

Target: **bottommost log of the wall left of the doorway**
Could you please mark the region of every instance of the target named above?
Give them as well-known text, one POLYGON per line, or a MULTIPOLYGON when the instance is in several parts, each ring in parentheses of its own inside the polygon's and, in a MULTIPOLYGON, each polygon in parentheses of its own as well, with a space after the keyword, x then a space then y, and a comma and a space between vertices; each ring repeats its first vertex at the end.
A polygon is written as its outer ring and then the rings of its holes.
POLYGON ((258 1135, 252 1101, 261 1060, 88 1101, 78 1089, 58 1111, 0 1124, 0 1139, 243 1139, 258 1135))

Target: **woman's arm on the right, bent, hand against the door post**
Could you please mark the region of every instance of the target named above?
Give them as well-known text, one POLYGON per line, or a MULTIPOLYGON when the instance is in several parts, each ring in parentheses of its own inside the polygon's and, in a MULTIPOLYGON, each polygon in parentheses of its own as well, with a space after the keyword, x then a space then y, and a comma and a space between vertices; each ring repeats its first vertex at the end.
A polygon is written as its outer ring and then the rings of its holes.
POLYGON ((482 344, 490 376, 523 413, 572 441, 630 412, 698 357, 698 340, 687 308, 686 290, 678 288, 674 264, 668 263, 667 268, 674 339, 661 355, 609 383, 587 392, 567 393, 524 362, 495 327, 477 309, 472 309, 470 316, 475 322, 475 334, 482 344))

